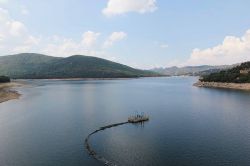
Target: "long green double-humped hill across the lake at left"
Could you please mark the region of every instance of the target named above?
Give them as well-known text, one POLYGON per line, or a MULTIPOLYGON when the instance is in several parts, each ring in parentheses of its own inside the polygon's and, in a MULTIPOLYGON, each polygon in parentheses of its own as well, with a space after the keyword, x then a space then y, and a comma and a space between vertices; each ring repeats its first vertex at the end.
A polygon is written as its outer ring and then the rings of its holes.
POLYGON ((158 74, 131 68, 101 58, 74 55, 58 58, 23 53, 0 57, 0 75, 14 79, 130 78, 158 74))

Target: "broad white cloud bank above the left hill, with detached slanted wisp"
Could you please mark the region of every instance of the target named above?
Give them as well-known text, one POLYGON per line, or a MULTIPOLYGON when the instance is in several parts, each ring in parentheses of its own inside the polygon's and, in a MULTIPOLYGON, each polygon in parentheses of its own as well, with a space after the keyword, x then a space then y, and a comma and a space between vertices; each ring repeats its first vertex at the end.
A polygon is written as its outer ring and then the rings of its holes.
MULTIPOLYGON (((98 45, 100 33, 86 31, 79 40, 62 36, 33 36, 20 21, 10 17, 9 12, 0 8, 0 55, 36 52, 52 56, 89 55, 114 59, 114 55, 98 45)), ((115 32, 108 38, 108 45, 124 38, 124 32, 115 32)))

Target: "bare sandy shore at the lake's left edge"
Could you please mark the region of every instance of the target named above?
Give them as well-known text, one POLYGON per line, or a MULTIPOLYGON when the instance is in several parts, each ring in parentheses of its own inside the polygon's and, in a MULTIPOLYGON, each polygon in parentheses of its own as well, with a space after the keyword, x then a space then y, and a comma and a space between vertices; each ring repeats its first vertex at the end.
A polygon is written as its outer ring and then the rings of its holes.
POLYGON ((1 83, 0 84, 0 103, 19 99, 21 96, 20 93, 18 93, 17 90, 14 88, 22 86, 22 83, 20 82, 10 82, 10 83, 1 83))

